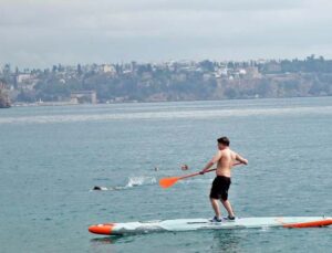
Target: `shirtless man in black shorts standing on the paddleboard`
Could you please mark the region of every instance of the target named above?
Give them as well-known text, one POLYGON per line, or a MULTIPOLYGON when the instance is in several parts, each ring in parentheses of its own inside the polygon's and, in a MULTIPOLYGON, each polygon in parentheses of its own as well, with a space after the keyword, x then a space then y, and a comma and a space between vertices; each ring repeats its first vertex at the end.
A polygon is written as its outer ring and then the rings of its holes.
POLYGON ((218 152, 200 171, 200 173, 204 175, 217 162, 217 177, 212 182, 210 192, 210 201, 216 213, 215 218, 211 220, 214 222, 221 222, 218 200, 221 200, 222 205, 227 210, 228 219, 235 220, 235 213, 232 211, 230 202, 228 201, 228 189, 231 183, 230 170, 236 161, 248 165, 247 159, 242 158, 240 155, 236 154, 229 148, 229 139, 227 137, 221 137, 218 139, 218 152))

